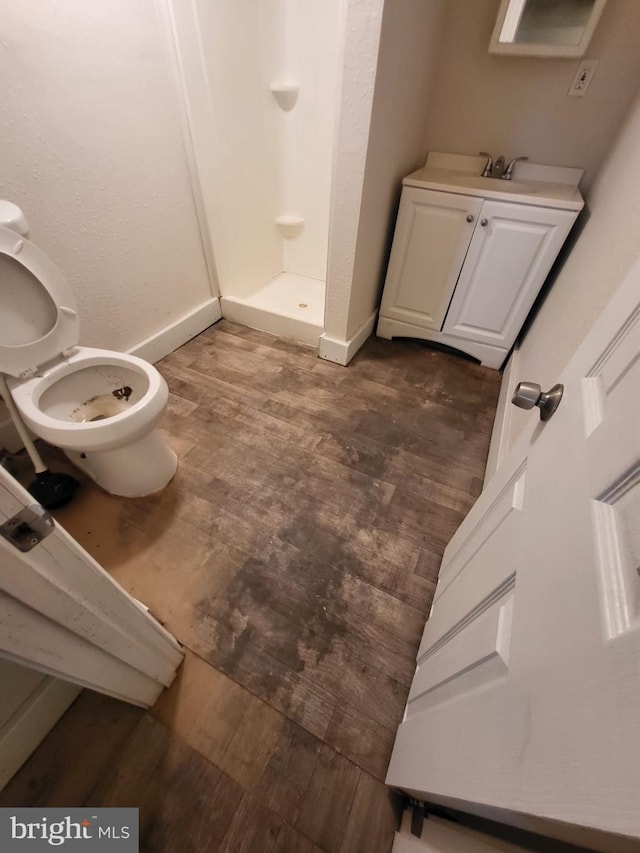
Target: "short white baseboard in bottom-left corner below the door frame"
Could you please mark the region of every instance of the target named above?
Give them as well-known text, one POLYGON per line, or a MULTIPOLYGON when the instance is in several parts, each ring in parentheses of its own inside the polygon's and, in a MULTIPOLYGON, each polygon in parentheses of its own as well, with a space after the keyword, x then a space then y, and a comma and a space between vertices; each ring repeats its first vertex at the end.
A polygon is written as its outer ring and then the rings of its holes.
POLYGON ((0 790, 49 734, 82 688, 47 676, 0 729, 0 790))

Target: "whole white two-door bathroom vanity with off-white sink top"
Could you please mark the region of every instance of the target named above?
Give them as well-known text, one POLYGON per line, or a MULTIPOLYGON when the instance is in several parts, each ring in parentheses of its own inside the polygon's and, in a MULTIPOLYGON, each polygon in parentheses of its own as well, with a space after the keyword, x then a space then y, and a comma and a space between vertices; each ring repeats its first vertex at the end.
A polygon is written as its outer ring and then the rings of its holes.
POLYGON ((581 169, 432 152, 403 181, 377 334, 446 344, 499 368, 584 201, 581 169))

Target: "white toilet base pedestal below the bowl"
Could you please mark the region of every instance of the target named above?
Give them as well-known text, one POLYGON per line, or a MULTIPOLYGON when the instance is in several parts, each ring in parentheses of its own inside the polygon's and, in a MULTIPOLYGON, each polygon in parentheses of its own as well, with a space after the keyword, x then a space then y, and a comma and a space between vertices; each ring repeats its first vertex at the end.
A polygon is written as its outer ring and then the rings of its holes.
POLYGON ((89 453, 65 450, 65 453, 106 492, 123 498, 142 498, 159 492, 178 467, 178 457, 157 429, 115 450, 89 453))

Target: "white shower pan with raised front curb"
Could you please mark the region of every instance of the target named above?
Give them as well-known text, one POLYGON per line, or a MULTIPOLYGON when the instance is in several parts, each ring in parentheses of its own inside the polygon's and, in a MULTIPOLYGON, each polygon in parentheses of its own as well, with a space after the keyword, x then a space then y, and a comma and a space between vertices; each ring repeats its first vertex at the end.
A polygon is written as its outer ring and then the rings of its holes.
POLYGON ((324 294, 324 281, 284 272, 247 296, 221 297, 222 316, 317 347, 324 331, 324 294))

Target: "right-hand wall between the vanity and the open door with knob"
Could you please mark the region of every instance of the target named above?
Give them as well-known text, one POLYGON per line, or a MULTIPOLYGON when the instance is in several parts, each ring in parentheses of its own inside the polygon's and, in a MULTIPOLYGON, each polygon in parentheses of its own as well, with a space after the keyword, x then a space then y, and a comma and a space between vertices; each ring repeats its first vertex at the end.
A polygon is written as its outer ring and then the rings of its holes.
MULTIPOLYGON (((640 5, 640 4, 639 4, 640 5)), ((510 389, 531 380, 551 387, 625 274, 640 256, 640 96, 589 194, 588 218, 522 341, 510 389)), ((507 390, 510 390, 507 389, 507 390)), ((507 405, 497 432, 511 447, 532 417, 507 405)))

